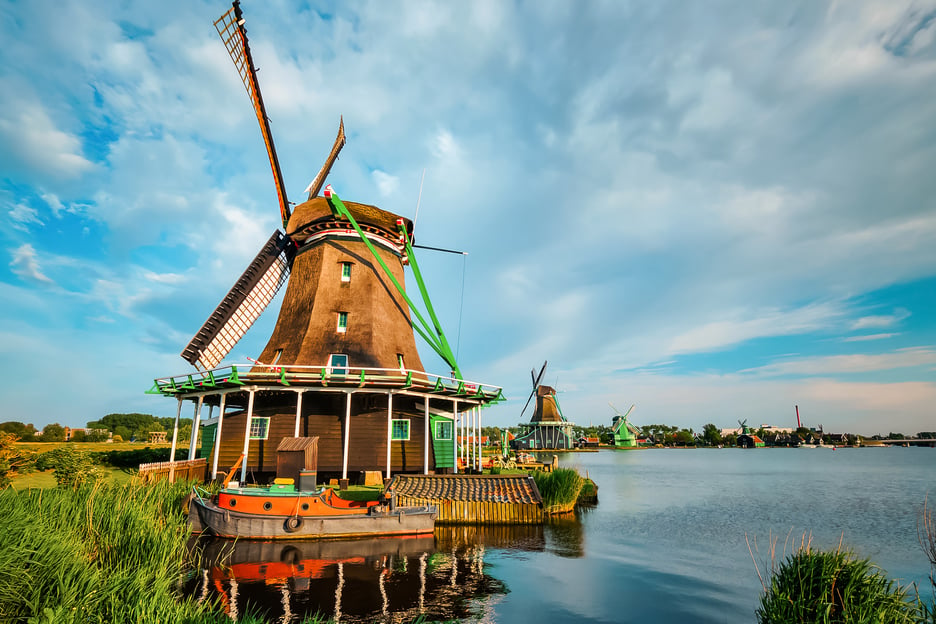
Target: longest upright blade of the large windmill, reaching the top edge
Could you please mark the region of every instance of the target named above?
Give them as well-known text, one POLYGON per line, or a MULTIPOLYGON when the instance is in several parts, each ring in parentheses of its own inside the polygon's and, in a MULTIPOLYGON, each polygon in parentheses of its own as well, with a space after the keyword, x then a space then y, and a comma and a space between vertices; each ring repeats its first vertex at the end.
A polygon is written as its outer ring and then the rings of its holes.
POLYGON ((266 108, 263 106, 263 96, 260 94, 260 83, 257 81, 257 70, 254 68, 253 58, 250 56, 250 46, 247 43, 247 31, 244 29, 244 14, 240 8, 240 0, 234 4, 227 13, 215 21, 215 29, 224 42, 237 73, 240 75, 247 89, 247 95, 254 105, 257 121, 260 122, 260 132, 266 144, 267 155, 270 157, 270 167, 273 169, 273 181, 276 183, 276 195, 280 202, 280 218, 283 227, 289 221, 289 200, 286 199, 286 184, 283 182, 283 172, 280 171, 279 158, 276 156, 276 146, 273 145, 273 133, 270 131, 270 120, 267 118, 266 108))

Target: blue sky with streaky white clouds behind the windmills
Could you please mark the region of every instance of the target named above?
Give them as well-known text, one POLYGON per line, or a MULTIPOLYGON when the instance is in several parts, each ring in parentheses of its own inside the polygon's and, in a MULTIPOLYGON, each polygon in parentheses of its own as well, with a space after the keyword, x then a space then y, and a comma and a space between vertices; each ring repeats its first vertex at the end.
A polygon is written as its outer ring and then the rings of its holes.
MULTIPOLYGON (((278 225, 229 6, 0 1, 0 421, 174 415, 278 225)), ((486 425, 548 360, 577 424, 936 430, 936 1, 242 6, 290 198, 343 115, 341 197, 468 253, 419 261, 486 425)))

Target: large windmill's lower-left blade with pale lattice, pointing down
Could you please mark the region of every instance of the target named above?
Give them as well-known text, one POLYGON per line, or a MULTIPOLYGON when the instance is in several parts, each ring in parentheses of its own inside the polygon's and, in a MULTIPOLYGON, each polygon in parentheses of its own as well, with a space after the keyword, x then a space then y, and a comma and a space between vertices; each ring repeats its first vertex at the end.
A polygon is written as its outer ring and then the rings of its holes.
POLYGON ((257 257, 225 295, 202 328, 182 351, 193 366, 218 366, 244 337, 276 292, 289 277, 296 246, 279 230, 266 242, 257 257))

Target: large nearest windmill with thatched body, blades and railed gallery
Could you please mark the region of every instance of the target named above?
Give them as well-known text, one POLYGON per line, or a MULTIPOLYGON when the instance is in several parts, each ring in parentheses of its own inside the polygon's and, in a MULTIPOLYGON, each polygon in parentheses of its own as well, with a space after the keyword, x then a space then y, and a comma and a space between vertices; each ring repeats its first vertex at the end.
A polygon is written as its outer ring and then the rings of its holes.
MULTIPOLYGON (((319 437, 320 472, 347 477, 349 466, 385 468, 389 477, 391 469, 454 469, 457 430, 480 432, 480 406, 503 395, 462 378, 413 253, 413 222, 342 201, 326 185, 346 143, 343 118, 325 163, 304 191, 306 200, 293 206, 238 0, 215 29, 256 112, 282 229, 273 232, 183 349, 183 359, 197 372, 157 379, 151 392, 178 398, 180 412, 183 400, 196 402, 190 459, 202 404, 218 407, 215 419, 209 411, 214 429, 202 436, 203 453, 213 453, 213 475, 219 461, 231 465, 238 457, 241 480, 248 471, 275 470, 276 443, 300 433, 319 437), (404 288, 404 266, 416 278, 431 322, 404 288), (222 366, 283 286, 273 333, 254 364, 240 370, 222 366), (444 360, 451 377, 425 371, 415 334, 444 360), (225 420, 225 407, 240 411, 225 420)), ((174 449, 175 436, 173 454, 174 449)))

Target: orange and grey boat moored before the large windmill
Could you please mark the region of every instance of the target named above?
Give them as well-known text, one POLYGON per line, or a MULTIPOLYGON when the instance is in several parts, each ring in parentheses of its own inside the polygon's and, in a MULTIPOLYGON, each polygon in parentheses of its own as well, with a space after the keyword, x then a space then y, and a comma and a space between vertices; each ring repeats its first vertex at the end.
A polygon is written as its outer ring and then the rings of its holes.
POLYGON ((398 506, 391 491, 379 501, 353 501, 328 487, 297 489, 291 479, 263 487, 231 483, 214 496, 195 489, 189 503, 193 533, 235 539, 423 535, 432 533, 436 515, 432 505, 398 506))

